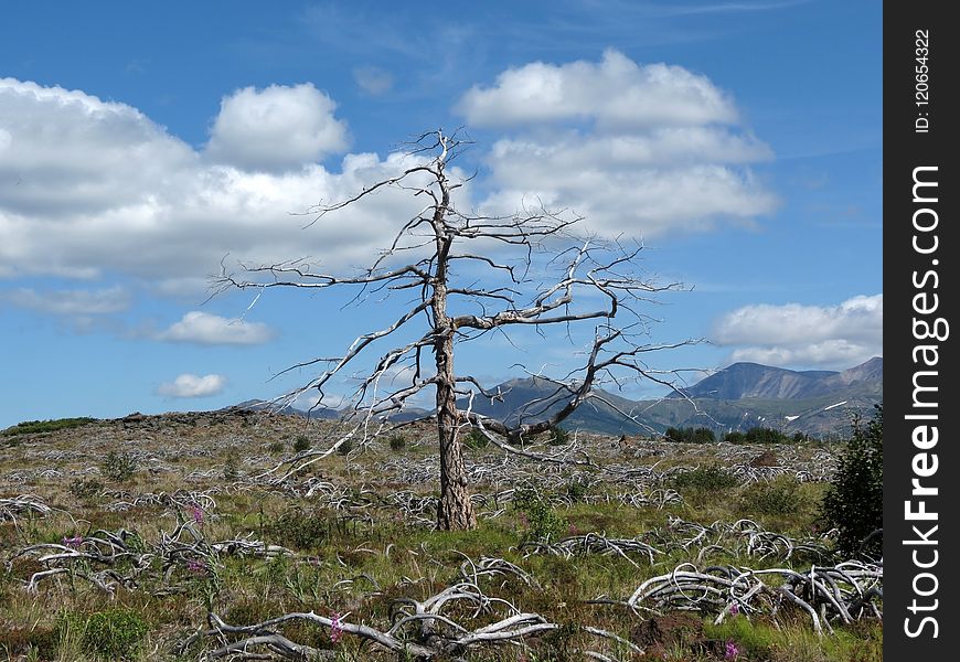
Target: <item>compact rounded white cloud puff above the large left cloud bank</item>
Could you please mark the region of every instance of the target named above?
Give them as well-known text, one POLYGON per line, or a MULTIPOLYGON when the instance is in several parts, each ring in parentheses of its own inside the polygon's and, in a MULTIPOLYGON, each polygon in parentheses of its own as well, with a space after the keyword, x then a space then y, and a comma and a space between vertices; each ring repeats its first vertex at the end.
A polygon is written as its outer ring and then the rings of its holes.
POLYGON ((206 153, 243 170, 282 172, 346 149, 337 104, 312 84, 245 87, 224 97, 206 153))

